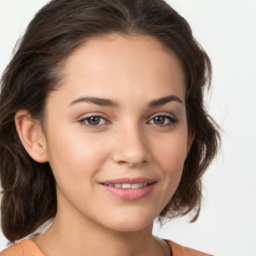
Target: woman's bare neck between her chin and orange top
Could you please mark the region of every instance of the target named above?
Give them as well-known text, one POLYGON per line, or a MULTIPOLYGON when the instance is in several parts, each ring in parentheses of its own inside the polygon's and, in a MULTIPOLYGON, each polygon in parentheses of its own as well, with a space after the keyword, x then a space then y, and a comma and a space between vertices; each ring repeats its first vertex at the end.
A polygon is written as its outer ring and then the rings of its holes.
POLYGON ((170 253, 163 241, 152 236, 153 223, 141 230, 116 231, 81 219, 57 213, 50 227, 33 241, 46 256, 163 256, 170 253))

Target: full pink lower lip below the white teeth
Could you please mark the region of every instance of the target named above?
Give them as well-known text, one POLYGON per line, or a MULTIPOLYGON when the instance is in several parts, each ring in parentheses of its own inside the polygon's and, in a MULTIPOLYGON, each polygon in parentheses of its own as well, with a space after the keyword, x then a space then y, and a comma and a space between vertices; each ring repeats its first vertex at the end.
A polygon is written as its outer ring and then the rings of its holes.
POLYGON ((155 182, 140 188, 121 188, 100 184, 100 186, 109 194, 128 201, 135 201, 145 197, 152 191, 154 185, 155 182))

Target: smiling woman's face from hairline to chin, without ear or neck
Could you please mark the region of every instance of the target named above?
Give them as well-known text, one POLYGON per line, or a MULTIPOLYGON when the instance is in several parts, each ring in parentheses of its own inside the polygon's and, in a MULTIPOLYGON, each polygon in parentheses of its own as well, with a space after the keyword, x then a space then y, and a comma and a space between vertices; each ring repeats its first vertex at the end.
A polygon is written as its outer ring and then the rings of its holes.
POLYGON ((192 141, 179 60, 150 36, 91 39, 46 104, 57 215, 140 230, 178 186, 192 141))

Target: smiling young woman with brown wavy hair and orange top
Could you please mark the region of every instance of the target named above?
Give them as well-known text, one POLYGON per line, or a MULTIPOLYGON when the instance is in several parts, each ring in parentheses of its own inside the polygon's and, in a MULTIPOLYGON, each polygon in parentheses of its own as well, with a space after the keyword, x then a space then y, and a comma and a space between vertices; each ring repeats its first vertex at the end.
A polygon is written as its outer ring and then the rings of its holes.
POLYGON ((210 78, 163 0, 46 4, 1 79, 1 222, 16 243, 0 255, 209 255, 152 226, 198 217, 220 140, 210 78))

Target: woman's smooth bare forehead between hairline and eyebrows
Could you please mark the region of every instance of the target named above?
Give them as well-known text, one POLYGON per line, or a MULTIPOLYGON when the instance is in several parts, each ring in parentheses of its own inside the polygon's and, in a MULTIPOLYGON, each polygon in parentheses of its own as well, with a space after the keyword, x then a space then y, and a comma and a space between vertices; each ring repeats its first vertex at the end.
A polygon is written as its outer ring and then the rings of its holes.
MULTIPOLYGON (((135 100, 178 94, 184 98, 184 74, 179 58, 154 37, 111 34, 93 38, 65 62, 63 86, 69 97, 93 94, 110 98, 121 94, 135 100)), ((54 92, 53 92, 54 94, 54 92)))

